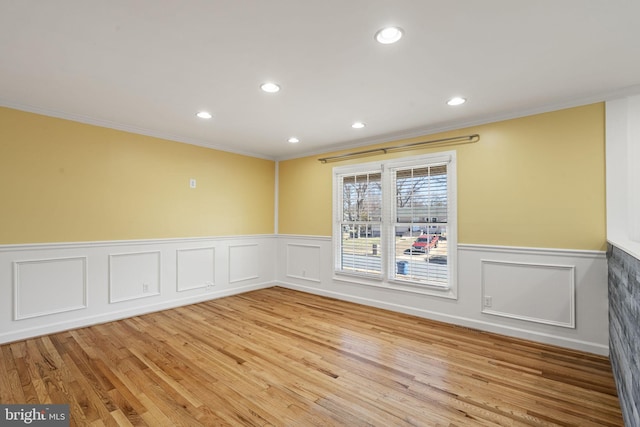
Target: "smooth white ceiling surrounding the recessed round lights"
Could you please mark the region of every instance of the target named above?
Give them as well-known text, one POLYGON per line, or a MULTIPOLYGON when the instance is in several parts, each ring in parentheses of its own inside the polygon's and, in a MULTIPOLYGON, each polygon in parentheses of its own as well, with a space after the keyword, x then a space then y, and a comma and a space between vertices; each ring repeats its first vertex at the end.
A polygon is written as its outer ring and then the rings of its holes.
POLYGON ((638 0, 0 0, 0 105, 286 159, 638 93, 639 17, 638 0), (404 38, 375 42, 390 24, 404 38))

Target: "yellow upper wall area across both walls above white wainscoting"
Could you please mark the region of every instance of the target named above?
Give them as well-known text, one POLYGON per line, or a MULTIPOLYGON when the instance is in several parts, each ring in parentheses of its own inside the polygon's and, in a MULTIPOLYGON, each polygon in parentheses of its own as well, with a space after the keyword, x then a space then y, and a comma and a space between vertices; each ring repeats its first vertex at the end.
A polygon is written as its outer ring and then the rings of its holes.
MULTIPOLYGON (((334 166, 455 149, 460 243, 605 248, 603 104, 386 145, 471 133, 480 142, 280 162, 279 232, 331 234, 334 166)), ((0 244, 270 234, 274 169, 269 160, 0 108, 0 244)))

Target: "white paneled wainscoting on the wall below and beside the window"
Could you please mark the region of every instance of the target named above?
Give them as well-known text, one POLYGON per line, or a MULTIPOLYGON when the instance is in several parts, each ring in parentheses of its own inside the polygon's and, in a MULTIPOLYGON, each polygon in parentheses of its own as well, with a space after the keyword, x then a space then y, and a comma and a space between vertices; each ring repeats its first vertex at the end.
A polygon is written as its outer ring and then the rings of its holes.
POLYGON ((507 336, 609 354, 607 259, 603 251, 459 244, 457 300, 335 280, 330 237, 279 235, 277 260, 276 281, 283 287, 507 336), (317 251, 308 250, 310 247, 319 247, 319 256, 317 251), (296 249, 299 251, 293 255, 296 249), (311 265, 318 263, 319 280, 299 277, 299 271, 289 265, 290 260, 305 265, 306 271, 313 271, 311 265), (483 260, 512 267, 513 277, 501 277, 500 283, 492 283, 496 285, 492 292, 507 293, 513 300, 506 307, 515 310, 515 315, 483 312, 488 309, 485 296, 491 296, 492 305, 495 302, 498 308, 506 304, 502 293, 483 293, 483 260), (536 286, 531 279, 520 283, 523 274, 531 268, 540 269, 536 280, 552 273, 549 277, 560 289, 536 286), (292 271, 295 273, 291 274, 292 271), (560 303, 555 300, 559 296, 560 303))

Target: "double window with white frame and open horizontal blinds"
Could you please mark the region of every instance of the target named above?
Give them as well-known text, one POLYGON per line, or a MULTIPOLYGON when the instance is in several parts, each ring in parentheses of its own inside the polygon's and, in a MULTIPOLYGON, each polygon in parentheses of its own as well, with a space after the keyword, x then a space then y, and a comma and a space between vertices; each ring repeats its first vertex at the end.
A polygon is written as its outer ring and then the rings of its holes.
POLYGON ((455 151, 333 172, 339 278, 455 298, 455 151))

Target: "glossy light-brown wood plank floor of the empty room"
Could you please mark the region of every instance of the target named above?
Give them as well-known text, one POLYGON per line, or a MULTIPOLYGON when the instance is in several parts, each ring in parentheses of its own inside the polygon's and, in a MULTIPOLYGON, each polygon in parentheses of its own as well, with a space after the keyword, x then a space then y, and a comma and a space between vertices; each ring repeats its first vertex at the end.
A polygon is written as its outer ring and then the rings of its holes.
POLYGON ((0 350, 71 425, 622 425, 607 358, 278 287, 0 350))

